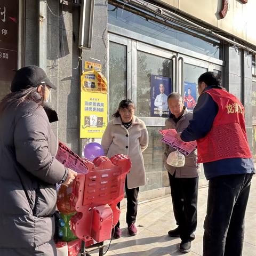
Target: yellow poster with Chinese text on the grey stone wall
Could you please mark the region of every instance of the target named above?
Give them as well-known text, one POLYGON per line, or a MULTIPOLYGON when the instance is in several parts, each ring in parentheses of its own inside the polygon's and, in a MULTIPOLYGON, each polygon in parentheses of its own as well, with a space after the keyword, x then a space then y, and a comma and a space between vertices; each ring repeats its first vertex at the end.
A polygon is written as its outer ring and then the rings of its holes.
POLYGON ((81 90, 80 138, 101 138, 107 125, 107 94, 81 90))

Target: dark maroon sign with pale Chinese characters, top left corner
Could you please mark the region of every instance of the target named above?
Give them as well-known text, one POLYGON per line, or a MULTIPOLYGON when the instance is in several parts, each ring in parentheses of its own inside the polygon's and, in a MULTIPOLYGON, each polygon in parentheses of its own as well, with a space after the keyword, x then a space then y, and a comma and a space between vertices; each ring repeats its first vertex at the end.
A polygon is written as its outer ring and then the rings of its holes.
POLYGON ((0 81, 12 80, 18 64, 18 0, 0 2, 0 81))

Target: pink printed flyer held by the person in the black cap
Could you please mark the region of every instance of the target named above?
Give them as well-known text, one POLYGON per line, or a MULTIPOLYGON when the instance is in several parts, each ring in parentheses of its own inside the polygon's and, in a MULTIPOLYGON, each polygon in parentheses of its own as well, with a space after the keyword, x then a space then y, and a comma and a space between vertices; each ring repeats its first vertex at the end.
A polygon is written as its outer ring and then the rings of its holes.
POLYGON ((83 159, 61 142, 59 142, 56 159, 64 166, 77 173, 86 174, 88 172, 87 166, 83 162, 83 159))

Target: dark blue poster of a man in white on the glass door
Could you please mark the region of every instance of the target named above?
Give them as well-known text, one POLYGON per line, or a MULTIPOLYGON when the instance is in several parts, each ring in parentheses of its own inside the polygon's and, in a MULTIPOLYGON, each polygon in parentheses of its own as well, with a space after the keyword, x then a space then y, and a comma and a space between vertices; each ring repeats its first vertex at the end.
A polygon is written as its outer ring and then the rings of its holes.
POLYGON ((151 116, 168 117, 169 109, 167 97, 172 92, 170 77, 151 75, 151 116))

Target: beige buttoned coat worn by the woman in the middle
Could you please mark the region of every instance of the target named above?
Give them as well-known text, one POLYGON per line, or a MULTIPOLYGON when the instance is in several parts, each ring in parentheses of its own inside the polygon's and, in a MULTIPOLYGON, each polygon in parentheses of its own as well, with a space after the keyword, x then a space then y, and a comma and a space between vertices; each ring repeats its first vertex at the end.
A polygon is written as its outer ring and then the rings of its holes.
POLYGON ((133 116, 131 126, 126 129, 120 117, 111 120, 103 133, 101 145, 107 157, 115 154, 128 155, 132 161, 127 174, 128 188, 146 184, 146 174, 142 152, 148 147, 148 131, 145 123, 133 116))

